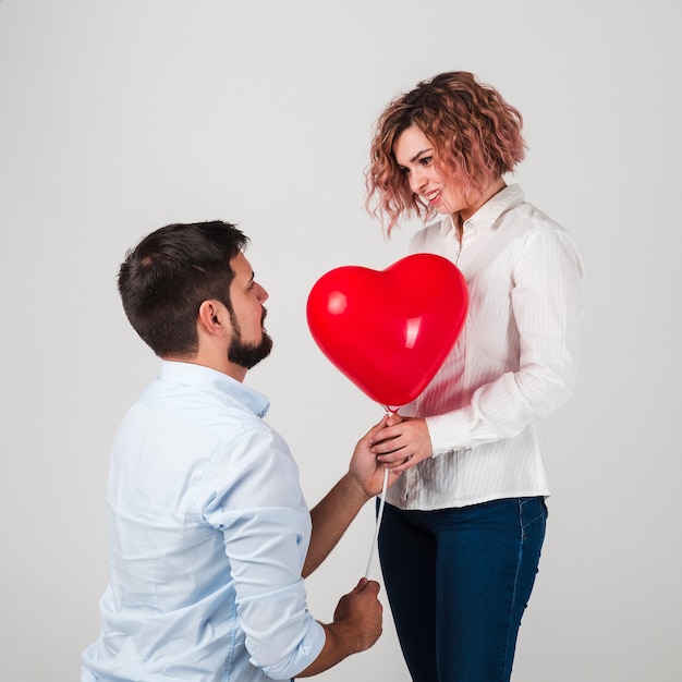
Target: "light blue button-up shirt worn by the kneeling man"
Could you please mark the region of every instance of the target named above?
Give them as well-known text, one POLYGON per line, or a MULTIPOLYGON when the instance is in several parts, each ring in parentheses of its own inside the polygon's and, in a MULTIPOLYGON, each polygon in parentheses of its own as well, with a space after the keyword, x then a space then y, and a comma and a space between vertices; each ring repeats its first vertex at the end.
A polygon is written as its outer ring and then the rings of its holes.
POLYGON ((163 362, 118 431, 109 585, 82 682, 290 680, 322 649, 301 570, 310 515, 267 399, 163 362))

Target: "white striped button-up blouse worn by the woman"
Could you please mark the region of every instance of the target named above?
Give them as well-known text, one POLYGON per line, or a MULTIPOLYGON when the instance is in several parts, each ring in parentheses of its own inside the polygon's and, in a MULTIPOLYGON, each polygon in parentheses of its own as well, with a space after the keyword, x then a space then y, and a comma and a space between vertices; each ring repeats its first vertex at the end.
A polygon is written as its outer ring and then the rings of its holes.
POLYGON ((470 309, 436 377, 400 410, 426 418, 434 456, 387 501, 434 510, 549 495, 544 423, 576 374, 583 268, 573 240, 510 185, 464 223, 461 249, 447 217, 417 232, 410 252, 455 263, 470 309))

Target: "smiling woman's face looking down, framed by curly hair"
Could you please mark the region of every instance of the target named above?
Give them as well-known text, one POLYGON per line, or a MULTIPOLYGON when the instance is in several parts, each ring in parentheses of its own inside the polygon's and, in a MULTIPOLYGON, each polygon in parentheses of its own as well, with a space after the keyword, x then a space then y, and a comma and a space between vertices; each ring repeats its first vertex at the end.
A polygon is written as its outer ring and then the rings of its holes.
POLYGON ((476 207, 466 202, 464 192, 436 170, 436 148, 416 125, 400 134, 393 143, 393 156, 412 192, 430 208, 443 216, 460 214, 462 220, 474 214, 476 207))

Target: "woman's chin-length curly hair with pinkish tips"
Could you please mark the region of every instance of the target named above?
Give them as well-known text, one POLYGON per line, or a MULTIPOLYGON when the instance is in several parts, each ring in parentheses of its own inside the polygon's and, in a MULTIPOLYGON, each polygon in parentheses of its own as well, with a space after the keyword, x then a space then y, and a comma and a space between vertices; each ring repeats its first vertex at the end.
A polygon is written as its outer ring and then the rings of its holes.
POLYGON ((426 221, 434 214, 412 192, 393 155, 395 141, 413 125, 434 145, 439 173, 468 196, 511 172, 525 155, 523 118, 494 87, 466 71, 422 81, 379 117, 365 170, 365 206, 389 236, 401 215, 426 221))

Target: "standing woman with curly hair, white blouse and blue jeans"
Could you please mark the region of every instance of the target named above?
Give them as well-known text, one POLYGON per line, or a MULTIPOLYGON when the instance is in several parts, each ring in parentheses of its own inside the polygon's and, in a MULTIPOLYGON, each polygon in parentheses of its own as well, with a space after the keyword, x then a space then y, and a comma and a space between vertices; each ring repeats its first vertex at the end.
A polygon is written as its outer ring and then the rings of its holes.
POLYGON ((402 217, 440 215, 410 251, 450 258, 470 290, 452 352, 374 444, 402 472, 379 556, 416 682, 510 679, 545 537, 543 426, 575 378, 581 259, 504 181, 524 158, 522 124, 471 73, 442 73, 388 105, 366 171, 389 235, 402 217))

